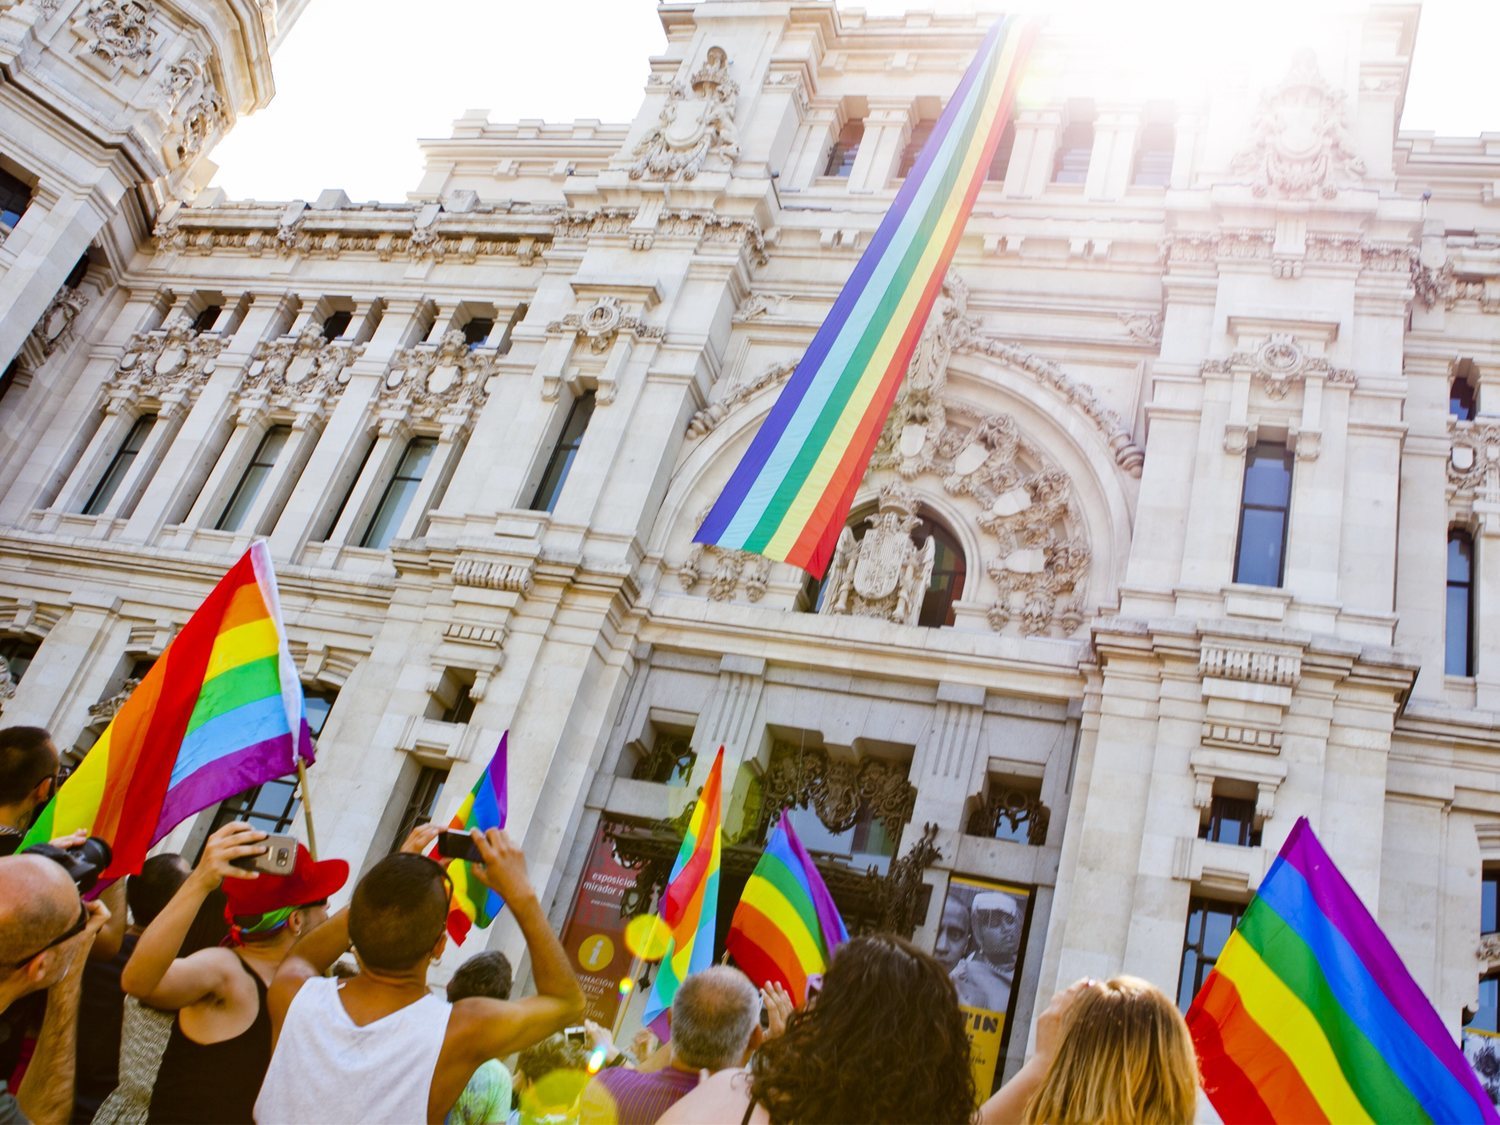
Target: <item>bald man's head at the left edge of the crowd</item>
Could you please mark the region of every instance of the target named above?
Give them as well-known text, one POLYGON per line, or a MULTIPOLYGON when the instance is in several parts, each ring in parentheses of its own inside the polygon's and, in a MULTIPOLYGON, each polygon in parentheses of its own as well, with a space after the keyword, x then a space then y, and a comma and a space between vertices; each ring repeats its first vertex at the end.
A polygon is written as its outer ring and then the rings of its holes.
POLYGON ((86 921, 78 888, 60 864, 40 855, 0 860, 0 1008, 68 974, 74 958, 63 944, 86 921))

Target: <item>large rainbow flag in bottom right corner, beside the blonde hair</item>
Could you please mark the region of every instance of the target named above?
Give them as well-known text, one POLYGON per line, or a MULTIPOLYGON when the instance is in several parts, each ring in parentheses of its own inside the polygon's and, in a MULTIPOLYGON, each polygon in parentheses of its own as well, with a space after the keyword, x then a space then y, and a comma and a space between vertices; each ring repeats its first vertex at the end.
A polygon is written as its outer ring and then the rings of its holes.
POLYGON ((1306 818, 1224 945, 1188 1026, 1226 1125, 1497 1120, 1306 818))

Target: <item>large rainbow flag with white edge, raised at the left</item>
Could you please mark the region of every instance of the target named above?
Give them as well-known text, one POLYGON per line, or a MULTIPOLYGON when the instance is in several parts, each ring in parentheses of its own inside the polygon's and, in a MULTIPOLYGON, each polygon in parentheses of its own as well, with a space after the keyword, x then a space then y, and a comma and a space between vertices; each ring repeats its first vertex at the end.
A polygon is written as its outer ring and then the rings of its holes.
POLYGON ((182 820, 312 760, 302 681, 264 542, 204 598, 26 834, 87 828, 112 880, 182 820))

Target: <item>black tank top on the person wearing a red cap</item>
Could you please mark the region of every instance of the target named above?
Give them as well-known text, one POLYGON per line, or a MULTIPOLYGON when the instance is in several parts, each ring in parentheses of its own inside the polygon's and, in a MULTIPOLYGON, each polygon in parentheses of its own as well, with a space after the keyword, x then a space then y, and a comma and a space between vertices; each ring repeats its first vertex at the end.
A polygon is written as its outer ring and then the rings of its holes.
POLYGON ((240 968, 255 981, 255 1022, 232 1040, 194 1042, 177 1014, 152 1090, 147 1120, 153 1125, 249 1125, 254 1119, 272 1062, 272 1014, 266 982, 243 960, 240 968))

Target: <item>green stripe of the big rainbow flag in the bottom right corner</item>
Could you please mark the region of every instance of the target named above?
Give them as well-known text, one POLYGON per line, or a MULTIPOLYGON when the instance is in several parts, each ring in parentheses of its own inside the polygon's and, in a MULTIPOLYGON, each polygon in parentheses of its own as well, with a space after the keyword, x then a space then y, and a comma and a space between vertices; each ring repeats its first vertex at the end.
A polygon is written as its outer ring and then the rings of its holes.
MULTIPOLYGON (((1260 954, 1266 966, 1300 999, 1323 1029, 1354 1096, 1376 1120, 1430 1120, 1422 1104, 1390 1064, 1365 1036, 1323 978, 1312 948, 1278 915, 1257 898, 1239 922, 1240 936, 1260 954)), ((1266 1028, 1275 1038, 1276 1029, 1266 1028)))

